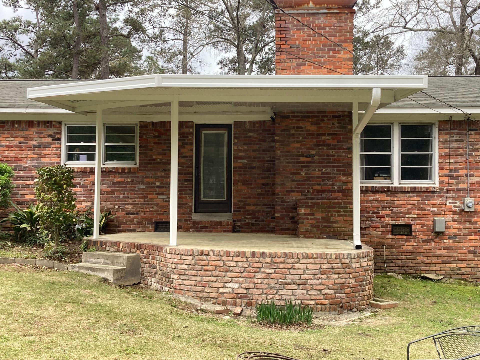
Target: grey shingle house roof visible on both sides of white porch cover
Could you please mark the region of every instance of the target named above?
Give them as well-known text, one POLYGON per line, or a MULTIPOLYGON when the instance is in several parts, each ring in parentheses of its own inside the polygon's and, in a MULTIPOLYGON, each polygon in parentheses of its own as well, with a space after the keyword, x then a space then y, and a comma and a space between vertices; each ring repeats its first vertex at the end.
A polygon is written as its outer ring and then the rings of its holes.
MULTIPOLYGON (((77 83, 85 80, 0 80, 0 108, 53 108, 26 98, 27 88, 54 84, 77 83)), ((452 106, 480 107, 480 76, 431 76, 424 90, 452 106)), ((388 107, 417 108, 448 107, 446 104, 420 92, 404 98, 388 107), (413 100, 420 102, 422 105, 413 100)))

